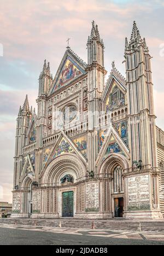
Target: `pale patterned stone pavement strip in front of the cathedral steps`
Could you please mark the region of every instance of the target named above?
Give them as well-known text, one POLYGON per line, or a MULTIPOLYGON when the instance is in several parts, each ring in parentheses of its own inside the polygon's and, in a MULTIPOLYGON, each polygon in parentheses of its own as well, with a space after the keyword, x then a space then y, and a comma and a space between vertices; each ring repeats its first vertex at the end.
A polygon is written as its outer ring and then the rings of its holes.
MULTIPOLYGON (((0 224, 1 229, 13 229, 24 231, 37 231, 62 235, 75 235, 75 236, 90 236, 90 237, 104 237, 107 239, 114 238, 115 240, 138 240, 139 241, 160 241, 164 245, 164 232, 150 232, 150 231, 118 231, 118 230, 100 230, 100 229, 77 229, 77 228, 53 228, 46 226, 29 226, 29 225, 14 225, 14 224, 0 224)), ((1 231, 2 234, 2 231, 1 231)), ((1 243, 1 240, 0 240, 1 243)), ((1 243, 2 244, 2 243, 1 243)), ((63 243, 64 244, 64 243, 63 243)), ((106 243, 107 244, 107 243, 106 243)))

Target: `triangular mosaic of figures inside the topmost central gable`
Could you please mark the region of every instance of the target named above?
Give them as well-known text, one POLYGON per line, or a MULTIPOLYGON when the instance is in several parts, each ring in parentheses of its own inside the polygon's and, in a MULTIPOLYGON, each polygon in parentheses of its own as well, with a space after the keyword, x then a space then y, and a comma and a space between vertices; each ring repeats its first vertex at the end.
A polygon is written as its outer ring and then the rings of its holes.
POLYGON ((69 80, 77 78, 81 74, 85 74, 85 71, 68 56, 55 89, 61 88, 69 80))

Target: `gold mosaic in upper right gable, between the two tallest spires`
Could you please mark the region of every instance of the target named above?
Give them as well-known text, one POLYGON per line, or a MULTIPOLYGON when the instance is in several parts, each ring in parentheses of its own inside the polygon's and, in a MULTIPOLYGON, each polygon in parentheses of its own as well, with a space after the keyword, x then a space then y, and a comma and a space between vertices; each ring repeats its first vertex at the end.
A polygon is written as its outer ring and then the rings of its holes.
POLYGON ((106 111, 113 111, 116 108, 125 106, 125 94, 117 85, 114 85, 112 92, 110 92, 109 98, 106 102, 106 111))

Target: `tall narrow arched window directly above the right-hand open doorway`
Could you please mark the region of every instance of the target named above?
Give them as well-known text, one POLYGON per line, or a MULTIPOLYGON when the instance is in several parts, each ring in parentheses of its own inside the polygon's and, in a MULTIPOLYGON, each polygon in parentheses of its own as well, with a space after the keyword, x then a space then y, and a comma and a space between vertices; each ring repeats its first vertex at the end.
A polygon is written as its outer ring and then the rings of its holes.
POLYGON ((122 173, 123 173, 122 167, 118 165, 113 172, 114 193, 120 193, 121 191, 124 190, 122 173))

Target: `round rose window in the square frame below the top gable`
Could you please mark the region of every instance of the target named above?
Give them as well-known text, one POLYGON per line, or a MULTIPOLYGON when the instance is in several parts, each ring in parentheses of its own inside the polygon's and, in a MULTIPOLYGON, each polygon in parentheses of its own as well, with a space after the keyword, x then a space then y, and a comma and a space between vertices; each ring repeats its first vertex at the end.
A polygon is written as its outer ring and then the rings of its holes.
POLYGON ((70 123, 75 117, 77 117, 77 106, 73 104, 61 111, 61 120, 64 124, 70 123))

